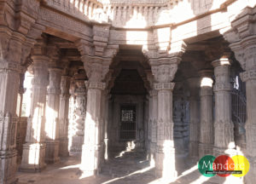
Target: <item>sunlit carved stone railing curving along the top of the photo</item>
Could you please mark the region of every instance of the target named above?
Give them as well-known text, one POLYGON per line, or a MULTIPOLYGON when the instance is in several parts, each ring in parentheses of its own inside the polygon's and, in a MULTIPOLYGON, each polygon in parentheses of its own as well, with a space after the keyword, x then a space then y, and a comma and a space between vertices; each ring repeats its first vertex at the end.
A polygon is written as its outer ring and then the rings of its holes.
POLYGON ((229 2, 231 0, 44 0, 44 5, 80 20, 144 28, 189 20, 229 2))

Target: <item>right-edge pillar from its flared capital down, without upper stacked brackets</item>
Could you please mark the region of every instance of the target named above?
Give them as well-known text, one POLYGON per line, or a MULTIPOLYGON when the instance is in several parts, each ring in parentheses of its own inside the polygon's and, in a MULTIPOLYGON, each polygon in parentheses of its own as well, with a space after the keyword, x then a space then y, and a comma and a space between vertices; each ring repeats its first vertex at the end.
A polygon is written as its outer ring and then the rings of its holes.
POLYGON ((245 181, 253 184, 256 181, 256 36, 245 37, 238 43, 230 44, 230 48, 235 52, 236 59, 245 70, 241 73, 241 79, 246 82, 246 157, 250 163, 250 170, 245 176, 245 181))

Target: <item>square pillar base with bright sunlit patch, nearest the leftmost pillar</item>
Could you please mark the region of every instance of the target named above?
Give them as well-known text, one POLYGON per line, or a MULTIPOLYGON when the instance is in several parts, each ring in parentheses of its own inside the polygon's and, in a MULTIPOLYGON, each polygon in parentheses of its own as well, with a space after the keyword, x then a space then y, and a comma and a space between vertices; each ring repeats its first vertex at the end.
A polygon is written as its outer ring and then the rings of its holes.
POLYGON ((44 158, 45 144, 26 143, 23 145, 23 154, 19 170, 21 172, 40 172, 46 167, 44 158))

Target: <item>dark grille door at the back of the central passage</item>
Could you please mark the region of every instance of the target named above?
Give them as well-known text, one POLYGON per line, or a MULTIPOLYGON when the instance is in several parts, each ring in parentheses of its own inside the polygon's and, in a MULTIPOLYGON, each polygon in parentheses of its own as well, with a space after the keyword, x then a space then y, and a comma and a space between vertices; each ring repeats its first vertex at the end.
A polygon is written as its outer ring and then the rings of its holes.
POLYGON ((121 124, 120 139, 135 140, 136 139, 136 106, 121 106, 121 124))

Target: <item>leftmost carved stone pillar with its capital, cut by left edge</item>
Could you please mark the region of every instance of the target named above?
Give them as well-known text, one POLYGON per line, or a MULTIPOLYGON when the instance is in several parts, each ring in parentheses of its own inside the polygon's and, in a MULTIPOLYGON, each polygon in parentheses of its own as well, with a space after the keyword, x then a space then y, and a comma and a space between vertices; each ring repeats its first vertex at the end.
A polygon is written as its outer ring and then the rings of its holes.
POLYGON ((19 33, 5 32, 3 27, 0 37, 0 183, 9 184, 16 181, 16 106, 24 37, 19 33))

